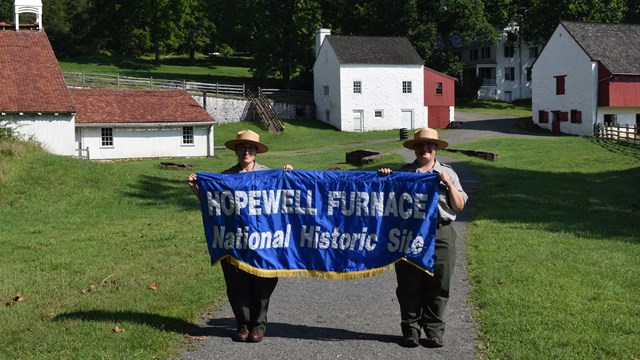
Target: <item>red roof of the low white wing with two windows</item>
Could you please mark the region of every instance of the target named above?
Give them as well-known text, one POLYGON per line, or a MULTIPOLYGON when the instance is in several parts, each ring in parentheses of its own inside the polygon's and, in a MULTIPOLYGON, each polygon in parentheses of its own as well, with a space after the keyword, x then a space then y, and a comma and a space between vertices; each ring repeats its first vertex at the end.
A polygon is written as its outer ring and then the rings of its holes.
POLYGON ((70 89, 76 124, 213 123, 184 90, 70 89))

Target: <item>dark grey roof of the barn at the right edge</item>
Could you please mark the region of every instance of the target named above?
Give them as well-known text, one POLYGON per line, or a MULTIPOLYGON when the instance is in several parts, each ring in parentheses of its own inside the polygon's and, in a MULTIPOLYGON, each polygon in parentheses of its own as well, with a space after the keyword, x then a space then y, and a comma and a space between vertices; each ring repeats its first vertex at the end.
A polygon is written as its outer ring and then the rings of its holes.
POLYGON ((640 25, 562 21, 591 60, 613 74, 640 74, 640 25))

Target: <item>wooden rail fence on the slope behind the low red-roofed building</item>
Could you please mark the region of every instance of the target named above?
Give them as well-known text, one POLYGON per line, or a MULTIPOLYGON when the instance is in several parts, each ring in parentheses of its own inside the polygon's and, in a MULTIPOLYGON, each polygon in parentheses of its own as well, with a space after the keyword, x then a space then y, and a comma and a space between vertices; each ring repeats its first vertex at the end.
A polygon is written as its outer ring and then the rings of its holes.
MULTIPOLYGON (((164 80, 122 76, 119 74, 93 74, 85 72, 64 72, 64 80, 69 86, 114 86, 145 89, 184 89, 189 92, 247 97, 247 88, 242 85, 200 83, 185 80, 164 80)), ((291 89, 260 89, 258 94, 273 100, 313 101, 310 91, 291 89)))

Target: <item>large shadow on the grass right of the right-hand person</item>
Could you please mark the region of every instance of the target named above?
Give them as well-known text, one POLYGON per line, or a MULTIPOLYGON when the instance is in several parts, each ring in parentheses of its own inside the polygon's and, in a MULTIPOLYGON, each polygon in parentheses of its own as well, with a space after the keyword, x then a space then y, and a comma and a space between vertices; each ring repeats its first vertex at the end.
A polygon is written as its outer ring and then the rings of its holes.
MULTIPOLYGON (((491 194, 475 220, 537 224, 589 239, 626 238, 640 245, 640 167, 595 174, 492 168, 481 163, 482 192, 491 194)), ((463 186, 465 179, 461 176, 463 186)), ((470 201, 474 201, 470 199, 470 201)), ((482 203, 485 203, 483 206, 482 203)))

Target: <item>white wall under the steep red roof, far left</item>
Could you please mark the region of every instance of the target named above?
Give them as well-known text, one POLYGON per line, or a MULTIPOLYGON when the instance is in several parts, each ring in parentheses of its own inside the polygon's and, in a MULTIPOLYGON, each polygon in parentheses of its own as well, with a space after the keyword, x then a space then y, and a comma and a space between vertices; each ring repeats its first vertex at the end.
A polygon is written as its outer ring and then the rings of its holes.
POLYGON ((34 139, 56 155, 75 155, 75 115, 73 114, 6 114, 0 116, 15 126, 25 139, 34 139))

